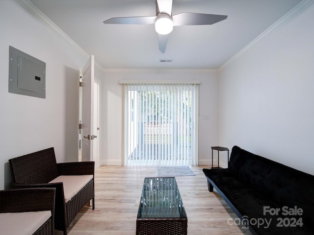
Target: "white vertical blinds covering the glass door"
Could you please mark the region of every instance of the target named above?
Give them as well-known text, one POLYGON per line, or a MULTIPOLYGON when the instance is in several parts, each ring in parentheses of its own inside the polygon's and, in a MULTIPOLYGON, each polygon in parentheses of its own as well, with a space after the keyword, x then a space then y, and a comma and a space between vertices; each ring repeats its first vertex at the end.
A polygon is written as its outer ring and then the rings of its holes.
POLYGON ((126 165, 192 165, 196 84, 125 84, 126 165))

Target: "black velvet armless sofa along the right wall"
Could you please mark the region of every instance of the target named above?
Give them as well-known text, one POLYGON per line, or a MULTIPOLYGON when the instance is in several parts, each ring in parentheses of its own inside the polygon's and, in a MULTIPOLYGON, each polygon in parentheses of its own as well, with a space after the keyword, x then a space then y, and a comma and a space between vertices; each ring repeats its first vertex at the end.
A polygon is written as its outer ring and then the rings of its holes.
POLYGON ((228 223, 259 235, 314 234, 313 175, 238 146, 228 168, 203 172, 209 191, 215 188, 240 218, 228 223))

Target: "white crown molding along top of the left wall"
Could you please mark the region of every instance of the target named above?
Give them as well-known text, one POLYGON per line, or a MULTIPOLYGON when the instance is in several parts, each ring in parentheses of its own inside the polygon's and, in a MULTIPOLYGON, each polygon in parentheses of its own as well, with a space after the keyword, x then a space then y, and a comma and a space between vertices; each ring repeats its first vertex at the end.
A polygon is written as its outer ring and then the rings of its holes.
MULTIPOLYGON (((43 23, 45 26, 47 26, 50 30, 52 30, 52 32, 54 32, 61 39, 63 39, 65 42, 67 42, 72 47, 74 47, 81 55, 86 57, 86 59, 88 59, 90 57, 90 55, 84 49, 79 47, 75 41, 73 41, 65 32, 63 32, 56 24, 54 24, 33 3, 31 3, 29 0, 16 0, 16 1, 21 6, 23 6, 31 15, 33 15, 37 20, 39 20, 41 23, 43 23)), ((97 62, 95 62, 95 65, 99 69, 103 69, 97 62)))

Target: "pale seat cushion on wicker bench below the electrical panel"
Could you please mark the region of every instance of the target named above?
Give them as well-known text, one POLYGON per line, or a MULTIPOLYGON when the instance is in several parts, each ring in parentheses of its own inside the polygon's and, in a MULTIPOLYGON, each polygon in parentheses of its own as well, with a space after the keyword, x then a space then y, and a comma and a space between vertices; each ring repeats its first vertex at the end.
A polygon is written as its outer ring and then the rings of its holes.
POLYGON ((93 179, 93 175, 60 175, 49 183, 63 183, 64 200, 67 203, 91 179, 93 179))

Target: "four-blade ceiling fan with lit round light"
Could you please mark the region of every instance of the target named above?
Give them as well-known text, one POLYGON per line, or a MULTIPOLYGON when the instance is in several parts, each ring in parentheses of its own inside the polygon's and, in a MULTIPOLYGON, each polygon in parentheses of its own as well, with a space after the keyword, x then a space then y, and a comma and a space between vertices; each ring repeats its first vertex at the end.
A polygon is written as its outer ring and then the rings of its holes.
POLYGON ((156 16, 115 17, 104 24, 155 24, 158 47, 164 53, 173 26, 215 24, 228 16, 183 12, 172 15, 172 0, 156 0, 156 16))

